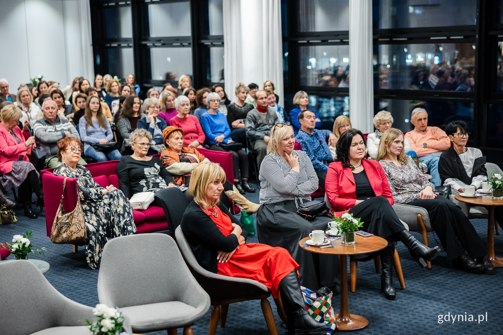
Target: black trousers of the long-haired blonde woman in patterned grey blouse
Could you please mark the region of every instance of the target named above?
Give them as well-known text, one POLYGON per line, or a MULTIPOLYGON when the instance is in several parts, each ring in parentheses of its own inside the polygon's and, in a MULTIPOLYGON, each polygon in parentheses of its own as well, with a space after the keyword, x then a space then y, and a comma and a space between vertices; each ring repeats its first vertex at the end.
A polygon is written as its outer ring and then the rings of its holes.
POLYGON ((428 210, 435 233, 447 252, 447 260, 461 256, 464 254, 463 250, 472 259, 487 254, 487 249, 470 220, 454 202, 439 195, 435 199, 418 199, 407 204, 428 210))

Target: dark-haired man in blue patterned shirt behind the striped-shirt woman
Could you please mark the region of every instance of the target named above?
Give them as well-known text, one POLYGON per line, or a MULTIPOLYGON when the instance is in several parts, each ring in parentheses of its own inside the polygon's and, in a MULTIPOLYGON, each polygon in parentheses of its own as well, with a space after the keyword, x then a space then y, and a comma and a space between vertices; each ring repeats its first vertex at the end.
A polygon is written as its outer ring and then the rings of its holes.
POLYGON ((312 110, 301 111, 298 118, 300 130, 295 140, 302 145, 302 150, 311 159, 314 171, 318 176, 318 185, 325 188, 326 171, 328 170, 328 164, 332 161, 332 154, 328 149, 328 145, 336 146, 336 136, 329 130, 314 129, 316 115, 312 110))

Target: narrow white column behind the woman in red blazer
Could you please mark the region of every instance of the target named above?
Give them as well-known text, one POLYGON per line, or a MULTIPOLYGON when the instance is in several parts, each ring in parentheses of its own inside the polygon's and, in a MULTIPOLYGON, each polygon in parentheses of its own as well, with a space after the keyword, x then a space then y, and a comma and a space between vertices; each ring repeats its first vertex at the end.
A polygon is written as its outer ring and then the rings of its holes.
POLYGON ((350 118, 353 128, 373 131, 372 0, 349 2, 350 118))

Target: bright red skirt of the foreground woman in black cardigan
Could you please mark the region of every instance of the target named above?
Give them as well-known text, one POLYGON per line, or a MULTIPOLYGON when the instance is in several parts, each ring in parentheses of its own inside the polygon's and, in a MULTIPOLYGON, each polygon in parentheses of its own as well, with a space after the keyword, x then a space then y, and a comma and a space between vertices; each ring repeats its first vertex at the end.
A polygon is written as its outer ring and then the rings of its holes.
POLYGON ((227 263, 218 263, 217 273, 256 280, 266 285, 276 299, 280 281, 298 268, 286 249, 250 243, 239 246, 227 263))

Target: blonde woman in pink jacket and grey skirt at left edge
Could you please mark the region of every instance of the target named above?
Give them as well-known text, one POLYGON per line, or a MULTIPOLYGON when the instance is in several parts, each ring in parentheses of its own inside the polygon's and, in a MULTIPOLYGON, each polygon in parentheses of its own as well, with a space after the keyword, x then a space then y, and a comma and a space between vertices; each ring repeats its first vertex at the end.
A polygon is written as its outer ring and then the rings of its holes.
POLYGON ((35 143, 28 132, 28 120, 24 121, 23 132, 16 127, 21 119, 21 110, 14 104, 2 108, 0 119, 0 185, 3 191, 19 186, 18 196, 23 201, 25 216, 37 218, 31 207, 32 191, 40 207, 44 205, 44 194, 40 188, 39 174, 30 163, 27 150, 35 143))

